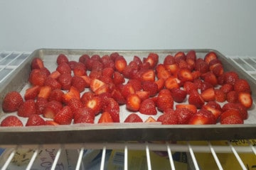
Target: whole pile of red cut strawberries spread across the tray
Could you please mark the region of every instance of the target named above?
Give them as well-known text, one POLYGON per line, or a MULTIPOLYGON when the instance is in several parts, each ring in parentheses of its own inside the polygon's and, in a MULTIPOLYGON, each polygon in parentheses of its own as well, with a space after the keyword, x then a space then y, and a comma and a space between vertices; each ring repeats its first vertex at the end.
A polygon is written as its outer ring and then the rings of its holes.
POLYGON ((79 61, 57 57, 50 72, 41 58, 31 62, 31 86, 23 96, 10 91, 1 126, 70 125, 71 123, 161 122, 164 125, 242 124, 252 106, 250 85, 236 72, 224 72, 215 52, 204 58, 191 50, 167 55, 134 56, 131 62, 110 55, 82 55, 79 61), (127 109, 120 113, 120 106, 127 109), (159 115, 154 117, 153 115, 159 115), (99 116, 95 122, 95 116, 99 116))

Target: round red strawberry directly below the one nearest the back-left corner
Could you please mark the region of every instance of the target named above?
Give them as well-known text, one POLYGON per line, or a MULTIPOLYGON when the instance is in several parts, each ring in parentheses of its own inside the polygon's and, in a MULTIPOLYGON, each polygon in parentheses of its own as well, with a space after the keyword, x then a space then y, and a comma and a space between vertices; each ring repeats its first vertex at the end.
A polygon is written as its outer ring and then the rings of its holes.
POLYGON ((29 74, 28 81, 33 86, 43 86, 46 81, 47 74, 42 71, 42 69, 33 69, 29 74))

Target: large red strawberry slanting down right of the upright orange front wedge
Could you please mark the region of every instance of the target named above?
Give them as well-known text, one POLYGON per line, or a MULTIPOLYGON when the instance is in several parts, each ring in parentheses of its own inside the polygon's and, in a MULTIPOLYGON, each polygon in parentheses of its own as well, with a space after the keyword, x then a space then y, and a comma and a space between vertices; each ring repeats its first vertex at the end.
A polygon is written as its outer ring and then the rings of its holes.
POLYGON ((104 112, 110 113, 112 120, 114 123, 119 123, 119 104, 117 101, 114 100, 114 98, 104 98, 103 100, 103 106, 102 109, 104 112))

